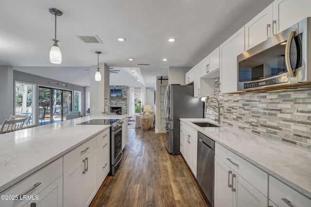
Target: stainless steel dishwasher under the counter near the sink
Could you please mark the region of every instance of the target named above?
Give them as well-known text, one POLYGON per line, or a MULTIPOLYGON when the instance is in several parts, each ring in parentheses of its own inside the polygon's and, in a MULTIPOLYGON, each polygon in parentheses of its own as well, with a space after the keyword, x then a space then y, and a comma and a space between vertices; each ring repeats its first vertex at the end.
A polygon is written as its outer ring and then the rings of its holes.
POLYGON ((197 181, 211 206, 214 206, 215 142, 198 132, 197 181))

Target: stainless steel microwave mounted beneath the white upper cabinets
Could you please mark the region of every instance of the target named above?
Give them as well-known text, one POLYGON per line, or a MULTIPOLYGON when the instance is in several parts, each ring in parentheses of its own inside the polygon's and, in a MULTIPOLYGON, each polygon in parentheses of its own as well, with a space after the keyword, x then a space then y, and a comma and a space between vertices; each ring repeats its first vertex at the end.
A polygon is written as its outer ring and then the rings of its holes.
POLYGON ((311 90, 311 17, 238 56, 238 91, 311 90))

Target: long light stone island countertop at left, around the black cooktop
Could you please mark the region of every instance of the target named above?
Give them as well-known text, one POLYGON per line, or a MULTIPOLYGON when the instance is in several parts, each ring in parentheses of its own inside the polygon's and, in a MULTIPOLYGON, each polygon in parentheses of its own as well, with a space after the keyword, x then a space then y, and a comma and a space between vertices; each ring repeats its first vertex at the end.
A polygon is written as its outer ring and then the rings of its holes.
POLYGON ((124 119, 127 115, 84 116, 40 127, 0 134, 0 192, 35 173, 110 125, 77 125, 91 119, 124 119))

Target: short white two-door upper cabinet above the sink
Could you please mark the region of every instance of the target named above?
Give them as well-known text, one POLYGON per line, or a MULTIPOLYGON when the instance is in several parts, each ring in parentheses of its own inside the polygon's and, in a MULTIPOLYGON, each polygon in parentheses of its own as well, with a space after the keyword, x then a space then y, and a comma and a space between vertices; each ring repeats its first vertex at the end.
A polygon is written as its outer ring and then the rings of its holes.
POLYGON ((220 67, 219 47, 214 49, 205 59, 200 62, 201 77, 204 77, 220 67))

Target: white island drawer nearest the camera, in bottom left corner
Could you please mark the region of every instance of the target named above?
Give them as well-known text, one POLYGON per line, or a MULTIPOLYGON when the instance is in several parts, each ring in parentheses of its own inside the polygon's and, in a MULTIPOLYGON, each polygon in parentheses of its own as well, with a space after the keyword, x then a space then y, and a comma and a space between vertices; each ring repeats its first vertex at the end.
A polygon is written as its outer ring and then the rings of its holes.
MULTIPOLYGON (((35 196, 43 191, 54 180, 63 174, 63 158, 56 159, 51 164, 38 170, 34 174, 21 180, 6 191, 1 192, 1 195, 27 195, 35 196), (35 187, 36 186, 36 187, 35 187), (32 190, 31 190, 32 189, 32 190), (31 191, 30 191, 31 190, 31 191)), ((23 197, 23 196, 22 196, 23 197)), ((0 200, 0 207, 20 207, 29 202, 29 199, 24 200, 0 200)))

